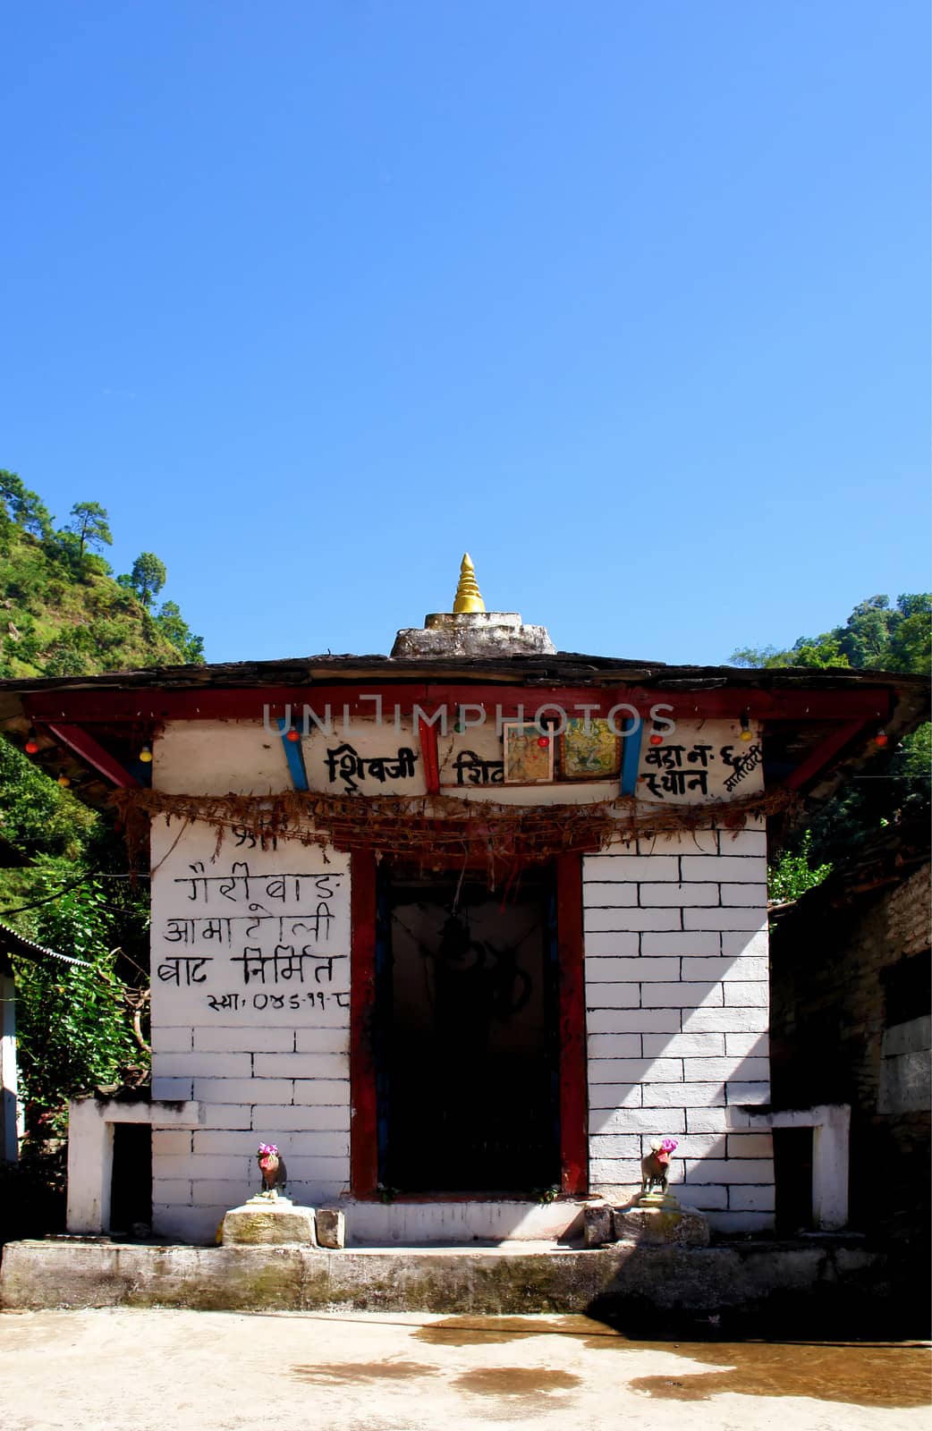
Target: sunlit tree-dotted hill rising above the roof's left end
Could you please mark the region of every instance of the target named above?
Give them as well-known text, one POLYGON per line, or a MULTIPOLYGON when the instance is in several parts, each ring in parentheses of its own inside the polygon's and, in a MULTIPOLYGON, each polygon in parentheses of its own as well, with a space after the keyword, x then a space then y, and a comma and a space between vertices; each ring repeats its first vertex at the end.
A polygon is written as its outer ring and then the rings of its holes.
POLYGON ((0 677, 93 675, 203 661, 155 552, 115 577, 102 552, 107 512, 76 502, 56 519, 16 472, 0 469, 0 677))

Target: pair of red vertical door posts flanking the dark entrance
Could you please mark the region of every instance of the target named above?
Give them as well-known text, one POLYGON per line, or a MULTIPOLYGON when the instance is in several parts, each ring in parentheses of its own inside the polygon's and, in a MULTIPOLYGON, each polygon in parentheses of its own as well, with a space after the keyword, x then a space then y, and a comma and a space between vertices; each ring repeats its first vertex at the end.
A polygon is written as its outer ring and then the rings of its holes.
MULTIPOLYGON (((375 1099, 375 854, 355 851, 351 863, 349 982, 349 1181, 352 1195, 378 1196, 375 1099)), ((560 1191, 588 1188, 586 1098, 586 996, 583 982, 583 857, 557 859, 557 954, 560 1027, 560 1191)))

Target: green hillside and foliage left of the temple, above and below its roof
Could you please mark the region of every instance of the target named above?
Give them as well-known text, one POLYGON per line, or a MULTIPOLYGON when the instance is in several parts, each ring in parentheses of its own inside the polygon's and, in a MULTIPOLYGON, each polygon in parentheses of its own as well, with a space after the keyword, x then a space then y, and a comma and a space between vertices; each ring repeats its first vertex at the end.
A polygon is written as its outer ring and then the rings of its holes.
MULTIPOLYGON (((56 525, 42 498, 0 469, 0 677, 203 661, 203 643, 178 604, 156 604, 168 581, 160 558, 143 551, 115 577, 103 557, 112 542, 99 502, 74 502, 56 525)), ((60 1221, 63 1166, 54 1139, 69 1095, 146 1076, 145 873, 130 877, 112 820, 0 738, 0 922, 86 960, 14 960, 27 1133, 14 1176, 24 1182, 17 1205, 27 1222, 0 1235, 27 1232, 30 1206, 44 1209, 44 1225, 60 1221), (50 1193, 57 1193, 54 1212, 50 1193)))

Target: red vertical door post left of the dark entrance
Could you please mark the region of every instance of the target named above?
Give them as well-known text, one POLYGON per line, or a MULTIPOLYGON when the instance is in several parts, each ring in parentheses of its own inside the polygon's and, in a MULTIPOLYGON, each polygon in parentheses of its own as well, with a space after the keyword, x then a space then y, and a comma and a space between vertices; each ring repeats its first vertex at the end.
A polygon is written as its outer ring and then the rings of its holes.
POLYGON ((355 1198, 375 1198, 375 856, 369 850, 352 856, 349 889, 349 1185, 355 1198))

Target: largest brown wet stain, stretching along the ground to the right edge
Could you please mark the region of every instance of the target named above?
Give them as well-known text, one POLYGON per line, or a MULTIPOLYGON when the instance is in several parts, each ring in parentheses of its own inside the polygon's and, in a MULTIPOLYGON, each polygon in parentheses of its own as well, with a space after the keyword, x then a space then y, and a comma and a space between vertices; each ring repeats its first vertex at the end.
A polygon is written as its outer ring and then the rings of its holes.
MULTIPOLYGON (((623 1355, 664 1351, 720 1368, 680 1377, 639 1377, 633 1391, 677 1401, 722 1392, 809 1397, 849 1405, 911 1408, 932 1404, 932 1357, 925 1345, 817 1341, 636 1341, 591 1317, 447 1317, 421 1327, 434 1347, 481 1347, 527 1337, 578 1337, 584 1347, 623 1355)), ((507 1368, 505 1368, 507 1369, 507 1368)), ((470 1374, 472 1375, 472 1374, 470 1374)), ((537 1372, 528 1372, 528 1377, 537 1372)))

